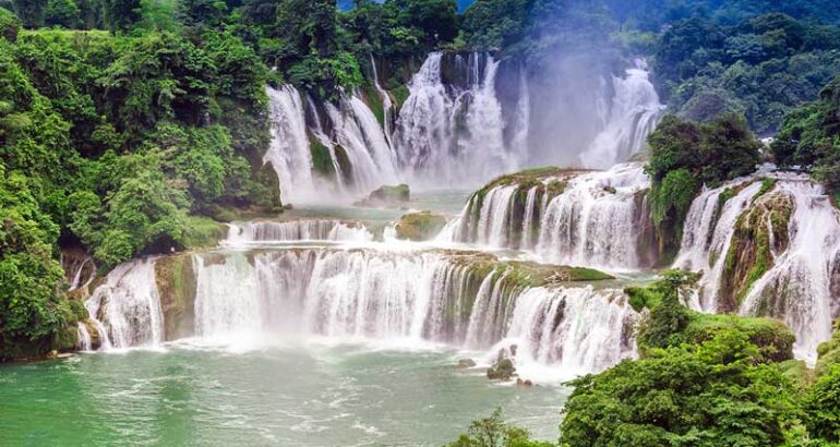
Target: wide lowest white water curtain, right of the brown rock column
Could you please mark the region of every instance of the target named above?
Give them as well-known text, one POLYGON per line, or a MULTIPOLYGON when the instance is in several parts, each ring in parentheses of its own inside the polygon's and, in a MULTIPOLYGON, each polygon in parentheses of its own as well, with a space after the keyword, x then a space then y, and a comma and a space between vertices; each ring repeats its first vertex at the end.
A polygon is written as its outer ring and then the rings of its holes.
POLYGON ((553 345, 536 340, 529 345, 540 353, 536 361, 563 361, 566 351, 559 340, 584 343, 579 350, 567 350, 578 357, 604 347, 590 363, 583 358, 567 360, 581 371, 614 363, 631 352, 624 323, 635 313, 619 291, 521 288, 507 280, 504 268, 477 277, 468 264, 434 252, 313 249, 264 252, 250 259, 231 253, 224 262, 215 256, 194 258, 195 324, 202 337, 310 334, 487 349, 506 334, 524 337, 527 323, 521 315, 527 314, 533 321, 553 322, 545 329, 552 334, 545 341, 553 345), (581 301, 575 302, 576 307, 532 309, 533 300, 568 297, 572 302, 577 295, 581 301), (595 325, 595 333, 587 335, 589 326, 581 322, 595 325), (625 341, 609 346, 611 340, 625 341))

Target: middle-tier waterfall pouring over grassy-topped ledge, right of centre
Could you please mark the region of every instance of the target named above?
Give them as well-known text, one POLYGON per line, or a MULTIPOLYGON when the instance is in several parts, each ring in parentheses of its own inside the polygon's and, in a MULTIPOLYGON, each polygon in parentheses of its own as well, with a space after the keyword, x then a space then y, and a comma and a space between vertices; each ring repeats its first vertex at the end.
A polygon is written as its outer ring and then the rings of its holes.
POLYGON ((650 185, 640 165, 608 171, 545 168, 501 177, 475 193, 441 238, 537 252, 547 262, 637 269, 650 185))

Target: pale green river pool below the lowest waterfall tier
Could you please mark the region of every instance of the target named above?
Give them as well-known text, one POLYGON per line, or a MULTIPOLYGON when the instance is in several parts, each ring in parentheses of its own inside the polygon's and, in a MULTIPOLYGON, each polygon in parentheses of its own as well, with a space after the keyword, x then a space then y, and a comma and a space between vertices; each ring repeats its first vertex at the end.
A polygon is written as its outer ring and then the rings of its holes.
POLYGON ((178 342, 0 366, 0 445, 440 446, 496 406, 556 439, 562 386, 459 370, 469 353, 307 341, 178 342))

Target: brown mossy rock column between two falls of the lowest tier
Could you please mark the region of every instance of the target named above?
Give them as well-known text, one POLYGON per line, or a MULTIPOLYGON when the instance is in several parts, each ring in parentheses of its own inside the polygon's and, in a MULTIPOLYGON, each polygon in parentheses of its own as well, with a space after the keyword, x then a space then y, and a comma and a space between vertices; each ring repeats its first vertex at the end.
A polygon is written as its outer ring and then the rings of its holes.
POLYGON ((177 340, 193 335, 196 278, 192 255, 165 256, 155 263, 157 292, 164 313, 164 338, 177 340))

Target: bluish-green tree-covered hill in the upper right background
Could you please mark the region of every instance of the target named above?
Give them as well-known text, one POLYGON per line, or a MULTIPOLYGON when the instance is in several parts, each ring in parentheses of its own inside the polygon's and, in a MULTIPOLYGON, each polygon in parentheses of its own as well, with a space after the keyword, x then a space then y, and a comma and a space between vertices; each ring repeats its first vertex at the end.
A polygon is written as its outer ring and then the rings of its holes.
POLYGON ((731 25, 695 14, 669 26, 653 46, 653 69, 672 110, 697 121, 744 114, 767 134, 792 108, 816 99, 840 73, 840 28, 779 10, 756 5, 758 13, 731 25))

